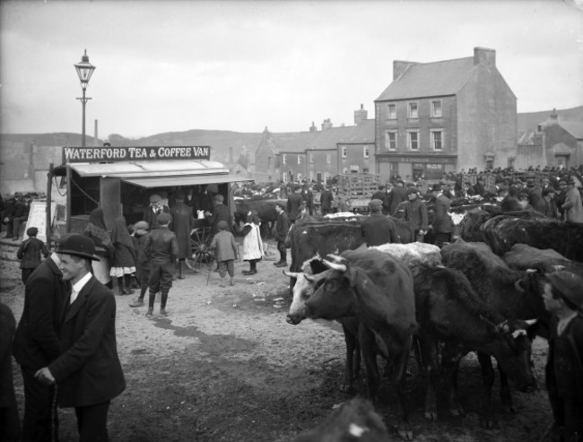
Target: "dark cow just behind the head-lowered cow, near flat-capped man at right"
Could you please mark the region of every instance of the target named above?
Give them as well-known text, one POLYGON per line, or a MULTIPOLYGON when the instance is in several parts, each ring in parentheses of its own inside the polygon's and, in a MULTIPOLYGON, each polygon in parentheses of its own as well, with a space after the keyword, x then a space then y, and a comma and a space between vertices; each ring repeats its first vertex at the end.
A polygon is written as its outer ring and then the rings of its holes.
MULTIPOLYGON (((538 318, 536 328, 531 333, 546 336, 549 314, 544 308, 541 288, 543 274, 532 269, 511 270, 508 265, 492 253, 484 243, 457 241, 441 249, 443 264, 464 273, 474 291, 500 315, 514 319, 538 318)), ((490 356, 478 353, 482 366, 484 384, 492 389, 494 373, 490 356)), ((500 363, 500 361, 499 361, 500 363)), ((500 365, 499 365, 500 367, 500 365)), ((507 379, 500 370, 500 396, 502 405, 510 412, 516 412, 509 392, 507 379)), ((483 427, 494 425, 487 417, 481 422, 483 427)))

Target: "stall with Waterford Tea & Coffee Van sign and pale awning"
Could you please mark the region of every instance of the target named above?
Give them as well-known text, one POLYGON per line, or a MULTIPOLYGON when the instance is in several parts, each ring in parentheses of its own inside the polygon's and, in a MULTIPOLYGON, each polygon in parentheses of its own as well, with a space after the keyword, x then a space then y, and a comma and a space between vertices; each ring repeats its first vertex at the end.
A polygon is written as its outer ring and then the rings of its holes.
POLYGON ((82 232, 97 207, 108 229, 120 215, 128 225, 140 221, 154 193, 170 205, 178 190, 192 192, 195 201, 221 194, 232 211, 232 186, 249 179, 210 157, 210 146, 64 147, 56 175, 66 177, 65 232, 82 232))

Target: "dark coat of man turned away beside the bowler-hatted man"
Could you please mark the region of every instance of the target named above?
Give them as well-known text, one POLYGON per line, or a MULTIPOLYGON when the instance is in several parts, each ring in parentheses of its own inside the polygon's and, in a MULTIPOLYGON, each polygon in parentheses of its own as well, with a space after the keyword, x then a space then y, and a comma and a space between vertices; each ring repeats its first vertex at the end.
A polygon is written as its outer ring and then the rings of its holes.
POLYGON ((45 259, 30 274, 24 289, 24 308, 16 328, 13 355, 22 367, 47 367, 60 354, 58 334, 61 313, 70 284, 52 258, 45 259))

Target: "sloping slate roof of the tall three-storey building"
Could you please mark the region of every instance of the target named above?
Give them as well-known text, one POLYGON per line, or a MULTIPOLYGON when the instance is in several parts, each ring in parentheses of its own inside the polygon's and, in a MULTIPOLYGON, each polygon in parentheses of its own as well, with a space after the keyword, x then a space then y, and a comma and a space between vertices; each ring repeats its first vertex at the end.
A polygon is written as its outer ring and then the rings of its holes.
POLYGON ((411 65, 375 101, 455 95, 476 68, 473 56, 411 65))

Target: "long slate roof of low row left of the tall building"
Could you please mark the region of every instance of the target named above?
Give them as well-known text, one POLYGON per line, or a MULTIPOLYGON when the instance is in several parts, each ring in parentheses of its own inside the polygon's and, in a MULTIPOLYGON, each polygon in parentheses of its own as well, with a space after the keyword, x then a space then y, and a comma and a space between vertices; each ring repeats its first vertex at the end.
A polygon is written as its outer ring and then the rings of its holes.
POLYGON ((271 134, 274 151, 303 152, 306 149, 336 149, 336 143, 374 143, 375 120, 357 126, 330 127, 318 132, 271 134))

